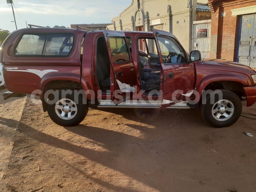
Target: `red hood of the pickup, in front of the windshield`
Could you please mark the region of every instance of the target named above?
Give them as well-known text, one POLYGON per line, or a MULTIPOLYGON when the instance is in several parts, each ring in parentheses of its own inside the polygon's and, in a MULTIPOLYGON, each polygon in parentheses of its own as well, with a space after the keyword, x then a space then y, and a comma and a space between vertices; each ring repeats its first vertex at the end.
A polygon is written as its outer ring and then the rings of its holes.
POLYGON ((220 71, 233 71, 237 73, 244 73, 246 75, 255 74, 255 71, 247 65, 237 63, 234 61, 224 61, 224 60, 204 60, 196 63, 197 69, 211 69, 220 71))

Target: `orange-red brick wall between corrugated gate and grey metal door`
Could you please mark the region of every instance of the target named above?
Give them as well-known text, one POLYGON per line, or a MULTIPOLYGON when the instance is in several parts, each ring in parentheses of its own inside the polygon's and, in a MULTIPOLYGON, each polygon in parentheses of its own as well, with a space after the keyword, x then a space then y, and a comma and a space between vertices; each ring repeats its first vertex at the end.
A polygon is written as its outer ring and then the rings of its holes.
POLYGON ((256 0, 209 0, 208 3, 212 12, 210 58, 234 61, 239 16, 232 16, 231 10, 256 5, 256 0))

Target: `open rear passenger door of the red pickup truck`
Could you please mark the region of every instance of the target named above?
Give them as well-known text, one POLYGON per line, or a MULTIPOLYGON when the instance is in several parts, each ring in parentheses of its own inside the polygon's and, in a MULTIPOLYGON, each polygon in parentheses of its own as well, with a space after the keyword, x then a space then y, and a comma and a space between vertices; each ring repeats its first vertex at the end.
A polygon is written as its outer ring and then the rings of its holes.
POLYGON ((117 105, 135 92, 136 71, 123 32, 104 30, 112 71, 110 72, 111 99, 117 105))

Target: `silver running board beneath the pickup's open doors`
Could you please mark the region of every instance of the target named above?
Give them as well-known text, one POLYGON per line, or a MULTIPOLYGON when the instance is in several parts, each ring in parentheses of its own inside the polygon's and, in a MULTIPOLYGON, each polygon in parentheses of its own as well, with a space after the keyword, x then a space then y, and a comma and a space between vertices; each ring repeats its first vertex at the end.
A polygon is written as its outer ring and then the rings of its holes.
MULTIPOLYGON (((99 105, 98 108, 160 108, 162 102, 161 101, 140 101, 140 100, 126 100, 118 105, 116 105, 112 100, 98 100, 99 105)), ((190 107, 187 105, 188 101, 182 101, 180 103, 174 104, 167 108, 186 108, 190 107)))

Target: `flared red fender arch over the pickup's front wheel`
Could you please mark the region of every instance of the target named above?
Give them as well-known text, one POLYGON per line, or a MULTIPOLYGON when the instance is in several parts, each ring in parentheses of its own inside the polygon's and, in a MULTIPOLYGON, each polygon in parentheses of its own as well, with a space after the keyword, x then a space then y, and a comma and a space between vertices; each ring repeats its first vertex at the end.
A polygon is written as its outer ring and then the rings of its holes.
POLYGON ((213 75, 208 75, 208 76, 204 77, 200 81, 198 86, 195 88, 195 90, 199 93, 199 95, 201 97, 202 92, 205 89, 205 87, 208 84, 210 84, 212 82, 216 82, 216 81, 235 81, 235 82, 242 83, 243 85, 246 85, 246 86, 251 86, 251 84, 252 84, 249 80, 247 80, 243 76, 232 75, 232 74, 213 74, 213 75))

